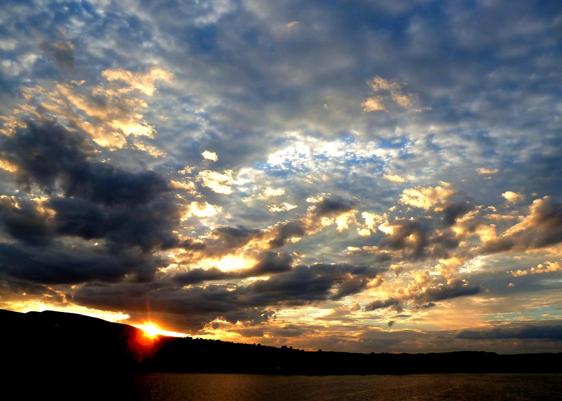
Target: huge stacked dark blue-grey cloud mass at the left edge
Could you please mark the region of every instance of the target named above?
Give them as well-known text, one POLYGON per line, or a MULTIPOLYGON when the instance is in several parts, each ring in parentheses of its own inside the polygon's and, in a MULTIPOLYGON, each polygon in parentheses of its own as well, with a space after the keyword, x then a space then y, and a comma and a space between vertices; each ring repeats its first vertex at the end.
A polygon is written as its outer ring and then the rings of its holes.
POLYGON ((0 227, 20 244, 1 244, 2 271, 48 284, 150 280, 161 259, 151 251, 201 249, 173 234, 182 209, 167 180, 156 172, 128 171, 97 160, 80 131, 52 121, 28 121, 0 138, 4 160, 17 166, 27 192, 47 198, 0 199, 0 227), (98 240, 98 247, 67 240, 98 240), (46 245, 49 245, 47 248, 46 245))

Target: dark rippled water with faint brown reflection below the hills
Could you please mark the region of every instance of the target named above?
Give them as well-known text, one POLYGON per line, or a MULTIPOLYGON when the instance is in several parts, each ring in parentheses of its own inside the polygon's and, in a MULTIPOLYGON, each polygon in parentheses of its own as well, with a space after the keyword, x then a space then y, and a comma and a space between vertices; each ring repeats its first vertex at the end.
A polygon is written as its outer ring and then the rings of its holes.
POLYGON ((562 375, 261 376, 151 373, 120 399, 166 401, 562 400, 562 375))

